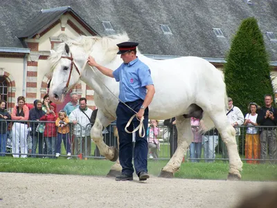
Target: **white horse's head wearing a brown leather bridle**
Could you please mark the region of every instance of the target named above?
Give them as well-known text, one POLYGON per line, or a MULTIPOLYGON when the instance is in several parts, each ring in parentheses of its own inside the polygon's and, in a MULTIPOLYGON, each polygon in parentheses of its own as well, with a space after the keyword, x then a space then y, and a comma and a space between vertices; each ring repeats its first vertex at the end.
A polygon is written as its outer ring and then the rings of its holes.
POLYGON ((51 50, 49 61, 53 70, 49 95, 56 102, 63 102, 65 94, 79 80, 87 61, 86 53, 80 47, 62 43, 57 51, 51 50))

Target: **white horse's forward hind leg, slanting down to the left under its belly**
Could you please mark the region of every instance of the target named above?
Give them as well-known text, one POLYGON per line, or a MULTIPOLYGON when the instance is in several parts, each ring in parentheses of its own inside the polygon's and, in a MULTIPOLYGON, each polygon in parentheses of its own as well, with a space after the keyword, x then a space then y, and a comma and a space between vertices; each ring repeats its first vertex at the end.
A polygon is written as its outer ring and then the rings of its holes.
POLYGON ((165 167, 161 170, 159 177, 172 178, 174 173, 179 170, 188 145, 193 141, 193 132, 191 130, 190 118, 183 115, 176 117, 176 125, 178 131, 178 146, 165 167))

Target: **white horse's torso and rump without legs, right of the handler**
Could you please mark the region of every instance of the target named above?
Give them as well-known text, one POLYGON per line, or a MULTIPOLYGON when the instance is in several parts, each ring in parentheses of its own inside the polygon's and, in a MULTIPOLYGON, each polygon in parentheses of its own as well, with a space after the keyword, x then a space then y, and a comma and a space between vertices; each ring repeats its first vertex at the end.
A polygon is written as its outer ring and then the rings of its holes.
POLYGON ((222 72, 205 59, 140 59, 152 72, 156 93, 150 105, 150 114, 154 117, 168 118, 186 114, 190 104, 203 106, 211 97, 224 97, 225 84, 222 72), (163 111, 161 108, 166 109, 163 111))

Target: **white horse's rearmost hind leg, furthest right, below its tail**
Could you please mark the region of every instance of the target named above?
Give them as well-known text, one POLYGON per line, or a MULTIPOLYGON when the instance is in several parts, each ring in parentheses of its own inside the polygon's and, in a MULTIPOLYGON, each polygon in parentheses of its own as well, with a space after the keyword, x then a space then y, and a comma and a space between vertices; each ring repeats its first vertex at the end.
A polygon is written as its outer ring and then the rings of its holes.
POLYGON ((235 141, 235 129, 227 120, 224 111, 217 111, 211 113, 211 119, 215 124, 215 128, 219 131, 223 142, 227 146, 229 155, 229 180, 236 180, 242 178, 240 171, 242 171, 242 160, 238 153, 238 145, 235 141))

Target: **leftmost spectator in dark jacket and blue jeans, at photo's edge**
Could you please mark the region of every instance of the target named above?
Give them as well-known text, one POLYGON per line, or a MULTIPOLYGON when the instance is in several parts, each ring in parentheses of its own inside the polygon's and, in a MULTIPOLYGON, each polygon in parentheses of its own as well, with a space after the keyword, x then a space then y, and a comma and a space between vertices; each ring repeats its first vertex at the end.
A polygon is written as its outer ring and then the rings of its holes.
POLYGON ((7 122, 11 120, 10 113, 5 109, 5 100, 0 100, 0 156, 5 156, 7 143, 7 122))

